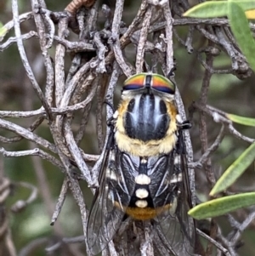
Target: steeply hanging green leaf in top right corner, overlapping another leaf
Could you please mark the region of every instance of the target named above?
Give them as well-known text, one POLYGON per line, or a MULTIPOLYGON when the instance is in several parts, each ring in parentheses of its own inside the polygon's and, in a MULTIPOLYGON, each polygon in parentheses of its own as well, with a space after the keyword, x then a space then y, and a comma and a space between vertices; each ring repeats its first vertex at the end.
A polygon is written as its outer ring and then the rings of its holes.
POLYGON ((252 70, 255 71, 255 43, 249 27, 249 22, 246 19, 246 14, 234 1, 229 1, 228 3, 228 17, 231 31, 233 31, 235 39, 241 48, 241 52, 246 56, 246 60, 249 65, 251 65, 252 70))

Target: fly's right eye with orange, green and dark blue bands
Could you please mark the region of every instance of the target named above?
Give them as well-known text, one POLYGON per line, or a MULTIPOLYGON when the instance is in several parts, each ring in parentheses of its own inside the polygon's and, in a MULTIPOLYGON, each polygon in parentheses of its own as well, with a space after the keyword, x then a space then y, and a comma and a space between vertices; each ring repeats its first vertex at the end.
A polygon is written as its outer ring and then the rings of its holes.
POLYGON ((167 94, 174 94, 175 92, 175 85, 173 84, 173 82, 168 80, 166 77, 156 74, 152 76, 151 88, 167 94))

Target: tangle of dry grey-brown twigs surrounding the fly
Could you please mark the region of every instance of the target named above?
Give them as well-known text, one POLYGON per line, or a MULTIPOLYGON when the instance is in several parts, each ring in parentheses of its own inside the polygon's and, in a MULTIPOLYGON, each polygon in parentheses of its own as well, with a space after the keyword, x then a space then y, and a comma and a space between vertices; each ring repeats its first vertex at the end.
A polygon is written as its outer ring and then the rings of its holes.
MULTIPOLYGON (((43 0, 31 0, 31 12, 26 14, 19 14, 18 1, 12 0, 13 20, 3 26, 5 33, 0 37, 0 42, 3 42, 0 45, 0 51, 7 51, 12 44, 17 45, 26 76, 33 88, 32 97, 37 97, 41 106, 32 111, 0 111, 0 128, 4 130, 0 141, 3 144, 12 145, 21 139, 33 143, 30 145, 31 148, 26 151, 8 151, 2 147, 0 153, 6 157, 39 156, 41 159, 51 162, 65 174, 59 200, 52 217, 52 225, 59 216, 69 190, 71 190, 82 216, 83 236, 79 239, 70 239, 70 241, 63 238, 54 247, 48 247, 48 251, 52 252, 64 243, 80 242, 81 239, 87 243, 88 202, 86 196, 84 198, 82 196, 78 180, 85 180, 92 190, 98 186, 99 167, 104 158, 105 141, 109 136, 109 128, 106 128, 105 131, 105 121, 112 116, 112 109, 109 105, 113 105, 117 82, 122 74, 125 77, 130 77, 134 73, 144 71, 146 56, 151 56, 151 66, 154 72, 162 71, 167 76, 174 66, 173 38, 184 46, 187 53, 194 54, 205 69, 199 100, 190 107, 190 118, 195 112, 200 115, 201 156, 197 161, 193 161, 190 134, 188 132, 184 134, 189 156, 188 166, 193 206, 197 202, 194 170, 203 167, 208 184, 211 187, 215 184, 216 177, 212 170, 211 155, 218 149, 226 131, 248 143, 254 142, 254 139, 239 133, 233 127, 232 122, 224 117, 223 111, 218 111, 207 105, 213 74, 230 73, 244 79, 250 77, 252 73, 246 58, 241 54, 235 43, 235 38, 229 30, 228 20, 183 18, 182 14, 187 9, 190 9, 187 0, 172 1, 171 8, 168 3, 143 0, 132 23, 127 26, 122 21, 123 0, 116 1, 114 12, 111 12, 106 5, 99 6, 99 1, 94 0, 73 0, 61 12, 47 9, 43 0), (98 31, 100 11, 105 14, 105 25, 98 31), (22 34, 20 25, 29 20, 35 22, 36 31, 22 34), (55 26, 57 31, 55 31, 55 26), (188 27, 184 39, 178 32, 180 26, 188 27), (12 30, 14 30, 15 36, 7 38, 8 33, 12 30), (71 38, 71 31, 75 32, 77 36, 71 38), (200 37, 207 39, 207 43, 201 48, 195 47, 195 33, 199 33, 200 37), (40 45, 46 73, 45 82, 37 81, 25 50, 24 43, 31 38, 36 38, 40 45), (54 58, 52 58, 54 45, 54 58), (127 46, 132 46, 136 52, 136 59, 131 63, 127 58, 127 46), (224 69, 217 69, 213 67, 213 60, 221 52, 229 56, 231 65, 224 69), (65 74, 66 56, 71 56, 71 65, 68 67, 67 75, 65 74), (135 64, 133 65, 133 63, 135 64), (106 106, 106 114, 103 111, 105 100, 109 103, 106 106), (96 113, 94 113, 94 104, 96 113), (82 139, 86 136, 85 128, 88 128, 88 120, 91 116, 96 117, 97 130, 95 134, 99 145, 98 155, 86 153, 80 146, 82 139), (207 116, 212 117, 214 122, 222 124, 218 137, 212 145, 209 145, 207 139, 207 116), (16 118, 17 123, 20 124, 7 121, 8 117, 16 118), (24 125, 26 122, 21 122, 25 118, 33 119, 33 122, 27 122, 26 127, 24 125), (78 123, 74 123, 75 118, 79 119, 78 123), (45 121, 53 141, 37 134, 37 129, 41 128, 45 121), (15 136, 11 137, 10 132, 15 136), (76 168, 80 170, 81 174, 77 174, 76 168)), ((254 30, 253 25, 251 25, 251 29, 254 30)), ((176 101, 181 117, 186 120, 184 105, 178 92, 176 101)), ((3 184, 5 181, 3 175, 1 175, 1 180, 3 184)), ((3 191, 1 193, 3 194, 3 191)), ((30 198, 28 202, 31 200, 30 198)), ((212 255, 213 244, 217 247, 218 255, 237 255, 233 247, 238 244, 243 230, 252 222, 253 215, 254 213, 248 214, 242 223, 233 221, 233 217, 229 215, 229 222, 235 231, 230 232, 228 236, 222 234, 220 227, 213 222, 213 219, 207 229, 210 237, 198 229, 198 233, 209 241, 206 252, 201 252, 201 254, 212 255)), ((128 223, 123 225, 122 229, 132 232, 132 226, 128 223)), ((141 255, 157 255, 157 253, 166 255, 165 248, 161 246, 161 238, 155 237, 155 242, 151 239, 150 233, 151 230, 148 226, 138 230, 141 255)), ((44 243, 45 240, 40 242, 44 243)), ((132 243, 130 237, 127 237, 127 241, 111 242, 109 250, 106 250, 104 255, 131 255, 134 249, 128 251, 128 248, 132 248, 132 243), (118 249, 119 245, 123 247, 122 251, 118 249), (125 248, 126 253, 123 253, 125 248)), ((26 247, 24 251, 26 253, 20 253, 20 255, 27 255, 31 248, 26 247)), ((14 248, 9 247, 8 251, 10 255, 16 255, 14 248), (13 253, 11 253, 12 251, 13 253)), ((90 254, 88 247, 87 253, 90 254)))

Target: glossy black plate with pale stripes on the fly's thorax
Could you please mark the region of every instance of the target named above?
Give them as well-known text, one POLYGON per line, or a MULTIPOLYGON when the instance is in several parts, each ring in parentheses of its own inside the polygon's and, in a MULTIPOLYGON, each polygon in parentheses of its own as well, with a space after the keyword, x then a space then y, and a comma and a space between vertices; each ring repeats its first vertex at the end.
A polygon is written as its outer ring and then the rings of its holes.
POLYGON ((123 116, 127 136, 142 141, 164 138, 169 122, 165 102, 154 94, 136 95, 129 101, 123 116))

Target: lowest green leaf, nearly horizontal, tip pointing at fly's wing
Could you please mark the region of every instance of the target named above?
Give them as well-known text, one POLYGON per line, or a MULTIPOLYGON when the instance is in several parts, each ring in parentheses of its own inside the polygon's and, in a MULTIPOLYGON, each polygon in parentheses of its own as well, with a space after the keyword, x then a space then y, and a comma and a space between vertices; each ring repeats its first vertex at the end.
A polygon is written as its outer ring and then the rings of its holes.
POLYGON ((206 219, 230 213, 239 208, 246 208, 254 204, 255 192, 242 193, 203 202, 195 206, 195 208, 190 209, 189 214, 195 219, 206 219))

